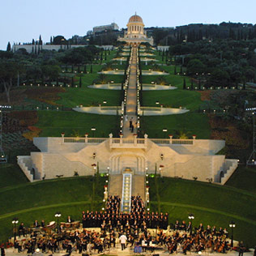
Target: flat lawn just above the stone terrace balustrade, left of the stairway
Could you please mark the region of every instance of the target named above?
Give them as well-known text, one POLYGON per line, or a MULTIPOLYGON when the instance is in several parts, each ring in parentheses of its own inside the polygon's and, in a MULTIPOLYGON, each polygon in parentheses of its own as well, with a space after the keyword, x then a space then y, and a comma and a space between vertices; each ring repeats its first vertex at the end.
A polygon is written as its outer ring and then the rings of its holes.
POLYGON ((75 111, 38 111, 39 121, 36 126, 42 129, 41 137, 59 137, 62 132, 66 136, 84 136, 88 133, 92 137, 92 127, 96 127, 95 137, 109 137, 116 134, 119 117, 79 113, 75 111))

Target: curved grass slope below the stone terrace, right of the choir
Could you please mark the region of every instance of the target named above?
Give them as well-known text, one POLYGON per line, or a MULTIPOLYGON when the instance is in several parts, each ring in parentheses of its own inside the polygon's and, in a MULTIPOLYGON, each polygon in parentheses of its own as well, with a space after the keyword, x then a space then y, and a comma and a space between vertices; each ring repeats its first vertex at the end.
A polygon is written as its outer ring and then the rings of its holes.
POLYGON ((149 186, 151 210, 168 211, 171 223, 188 221, 191 212, 195 215, 195 226, 203 222, 204 226, 228 228, 229 222, 234 220, 237 223, 235 239, 254 245, 255 194, 230 186, 175 178, 150 178, 149 186))

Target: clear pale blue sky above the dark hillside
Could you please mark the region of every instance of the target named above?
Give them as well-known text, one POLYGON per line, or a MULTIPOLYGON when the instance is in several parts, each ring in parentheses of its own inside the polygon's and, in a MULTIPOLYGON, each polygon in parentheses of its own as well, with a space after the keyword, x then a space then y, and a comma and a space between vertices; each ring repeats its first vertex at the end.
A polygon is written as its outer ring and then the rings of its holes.
POLYGON ((189 23, 256 23, 256 0, 0 0, 0 49, 42 36, 85 36, 94 26, 126 23, 135 11, 145 27, 189 23))

